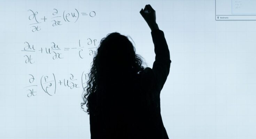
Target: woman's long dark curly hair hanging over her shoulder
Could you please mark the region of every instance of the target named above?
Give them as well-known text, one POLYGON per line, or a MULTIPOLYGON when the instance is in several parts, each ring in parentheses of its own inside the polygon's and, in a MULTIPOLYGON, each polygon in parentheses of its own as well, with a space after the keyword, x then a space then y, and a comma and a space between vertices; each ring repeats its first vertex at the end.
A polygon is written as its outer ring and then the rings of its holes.
POLYGON ((107 82, 113 84, 114 80, 121 76, 120 74, 131 76, 143 71, 143 58, 135 54, 135 51, 128 37, 120 33, 109 33, 106 38, 101 39, 88 74, 87 89, 84 88, 85 94, 83 92, 82 95, 84 101, 81 103, 82 109, 87 103, 85 112, 88 114, 95 112, 100 107, 102 98, 106 99, 103 95, 109 95, 103 94, 103 90, 108 88, 107 82), (113 79, 115 75, 116 78, 113 79))

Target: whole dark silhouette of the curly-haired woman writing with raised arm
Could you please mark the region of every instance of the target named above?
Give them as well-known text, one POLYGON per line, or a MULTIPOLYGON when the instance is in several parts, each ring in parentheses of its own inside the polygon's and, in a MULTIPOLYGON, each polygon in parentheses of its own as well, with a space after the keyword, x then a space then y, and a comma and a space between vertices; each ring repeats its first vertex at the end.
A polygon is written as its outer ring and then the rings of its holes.
POLYGON ((160 92, 170 71, 170 52, 155 10, 140 10, 151 29, 153 68, 142 65, 129 39, 117 32, 100 42, 83 95, 91 139, 169 139, 160 113, 160 92))

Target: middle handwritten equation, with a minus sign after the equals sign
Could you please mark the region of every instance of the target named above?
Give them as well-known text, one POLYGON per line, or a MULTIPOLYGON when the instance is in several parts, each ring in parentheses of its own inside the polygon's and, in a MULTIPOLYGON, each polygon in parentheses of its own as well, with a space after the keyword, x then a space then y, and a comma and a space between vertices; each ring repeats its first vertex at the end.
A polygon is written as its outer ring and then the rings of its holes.
MULTIPOLYGON (((94 50, 94 49, 98 48, 98 47, 94 47, 97 43, 96 41, 97 41, 96 39, 91 39, 91 38, 87 39, 87 46, 90 47, 87 49, 89 49, 88 53, 90 56, 97 53, 96 50, 94 50)), ((53 60, 64 58, 62 56, 63 55, 62 50, 64 50, 65 52, 77 51, 77 55, 79 55, 80 58, 84 58, 83 55, 85 53, 85 51, 83 51, 85 46, 82 46, 80 40, 79 40, 78 47, 73 47, 73 48, 67 48, 67 47, 62 48, 55 42, 51 42, 51 44, 49 44, 49 47, 45 47, 45 48, 41 47, 39 50, 35 49, 36 47, 33 44, 30 44, 29 42, 24 42, 24 45, 25 46, 24 46, 23 50, 21 50, 21 51, 26 52, 26 54, 24 55, 24 58, 25 58, 25 63, 27 63, 27 64, 35 63, 35 59, 33 58, 34 55, 31 55, 31 53, 39 52, 40 54, 46 54, 46 55, 51 56, 53 60)))

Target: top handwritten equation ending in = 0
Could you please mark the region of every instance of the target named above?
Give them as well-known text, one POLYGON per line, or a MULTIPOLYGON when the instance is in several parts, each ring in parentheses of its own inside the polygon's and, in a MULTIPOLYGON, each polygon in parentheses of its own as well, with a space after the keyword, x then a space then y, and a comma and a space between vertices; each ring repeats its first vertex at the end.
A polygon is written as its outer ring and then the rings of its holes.
MULTIPOLYGON (((28 10, 28 12, 30 13, 29 15, 29 21, 32 28, 32 32, 38 32, 41 30, 41 24, 45 23, 48 21, 48 17, 47 16, 39 16, 38 15, 38 11, 33 11, 31 9, 28 10)), ((61 26, 63 25, 63 23, 69 23, 69 22, 73 22, 76 23, 78 18, 80 16, 87 16, 87 17, 95 17, 96 13, 95 11, 90 11, 88 13, 79 13, 79 11, 77 9, 74 9, 73 11, 66 11, 64 10, 63 12, 59 12, 57 9, 53 9, 53 13, 50 17, 51 22, 52 22, 52 26, 61 26)))

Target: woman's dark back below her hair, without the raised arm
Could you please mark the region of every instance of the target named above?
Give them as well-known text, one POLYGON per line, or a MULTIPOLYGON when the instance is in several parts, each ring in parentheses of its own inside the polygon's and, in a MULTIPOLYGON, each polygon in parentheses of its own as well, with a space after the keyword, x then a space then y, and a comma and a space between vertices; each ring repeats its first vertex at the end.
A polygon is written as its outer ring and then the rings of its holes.
POLYGON ((96 116, 90 114, 91 125, 97 127, 91 129, 92 139, 168 139, 152 71, 146 68, 106 92, 108 101, 96 116))

